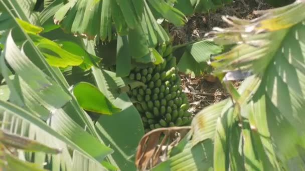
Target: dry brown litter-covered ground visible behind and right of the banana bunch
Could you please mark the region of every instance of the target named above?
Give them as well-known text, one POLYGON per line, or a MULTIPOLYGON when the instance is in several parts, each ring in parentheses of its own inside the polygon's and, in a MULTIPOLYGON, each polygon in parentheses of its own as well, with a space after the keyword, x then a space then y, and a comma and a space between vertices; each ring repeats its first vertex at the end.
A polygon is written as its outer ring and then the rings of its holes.
MULTIPOLYGON (((187 24, 182 27, 170 25, 170 33, 174 45, 184 44, 190 41, 204 38, 205 33, 213 27, 228 27, 228 24, 221 19, 223 15, 236 16, 243 19, 258 17, 253 14, 255 10, 270 9, 271 6, 260 0, 235 0, 225 7, 206 14, 194 14, 188 18, 187 24)), ((204 107, 229 97, 220 81, 211 76, 200 76, 190 78, 188 75, 181 75, 182 86, 191 103, 190 110, 196 114, 204 107)), ((238 87, 241 81, 236 81, 238 87)))

